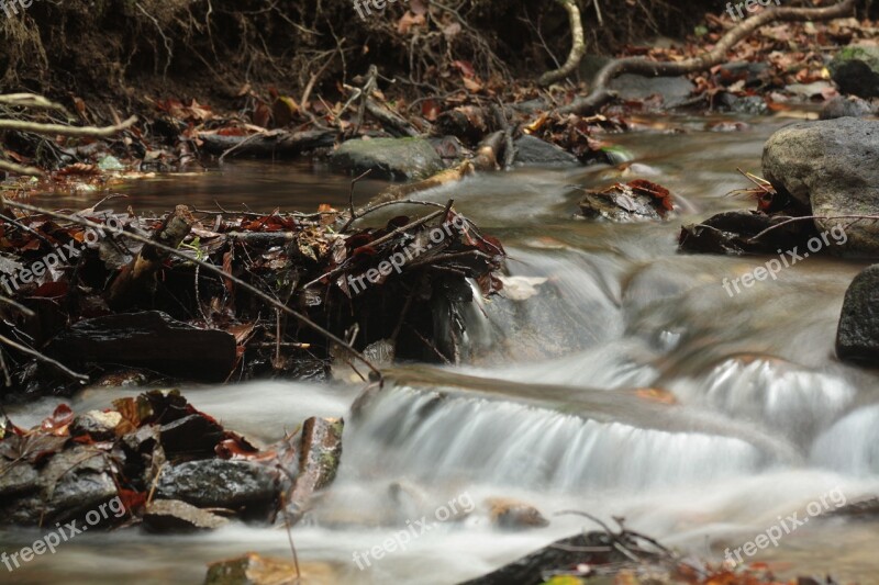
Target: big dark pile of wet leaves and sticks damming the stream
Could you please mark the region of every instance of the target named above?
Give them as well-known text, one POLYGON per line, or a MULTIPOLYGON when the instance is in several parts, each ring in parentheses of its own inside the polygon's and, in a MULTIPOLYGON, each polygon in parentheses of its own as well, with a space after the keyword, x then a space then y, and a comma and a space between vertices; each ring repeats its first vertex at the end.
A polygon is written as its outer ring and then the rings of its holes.
POLYGON ((0 225, 11 301, 0 305, 7 392, 64 393, 111 374, 118 383, 132 370, 166 383, 321 378, 340 356, 327 331, 357 350, 381 342, 391 358, 457 361, 460 308, 474 294, 467 281, 485 295, 500 290, 503 248, 450 203, 424 203, 438 209, 421 218, 358 227, 390 205, 403 203, 370 207, 357 222, 326 205, 315 213, 77 214, 112 229, 40 213, 11 217, 8 209, 0 225), (170 241, 178 254, 132 234, 170 241), (59 250, 60 261, 47 260, 59 250))

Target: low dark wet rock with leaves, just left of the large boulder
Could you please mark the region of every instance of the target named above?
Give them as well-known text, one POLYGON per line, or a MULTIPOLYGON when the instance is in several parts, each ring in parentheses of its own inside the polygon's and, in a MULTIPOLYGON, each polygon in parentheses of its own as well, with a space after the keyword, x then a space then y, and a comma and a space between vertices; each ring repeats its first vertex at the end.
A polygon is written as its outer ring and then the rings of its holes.
POLYGON ((787 218, 787 215, 774 217, 756 211, 723 212, 702 223, 685 225, 678 245, 681 250, 703 254, 776 254, 779 248, 805 246, 816 234, 810 222, 794 222, 753 239, 787 218))

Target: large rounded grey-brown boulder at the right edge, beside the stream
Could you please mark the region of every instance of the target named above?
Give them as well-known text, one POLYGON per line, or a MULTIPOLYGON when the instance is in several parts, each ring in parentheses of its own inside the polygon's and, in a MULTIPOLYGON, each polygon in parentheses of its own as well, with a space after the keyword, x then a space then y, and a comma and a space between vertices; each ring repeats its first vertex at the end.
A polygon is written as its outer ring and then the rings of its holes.
MULTIPOLYGON (((819 216, 879 214, 879 122, 841 117, 803 122, 769 137, 763 173, 779 193, 811 205, 819 216)), ((839 249, 879 255, 879 225, 815 220, 819 232, 844 229, 839 249)), ((836 246, 834 246, 836 248, 836 246)))

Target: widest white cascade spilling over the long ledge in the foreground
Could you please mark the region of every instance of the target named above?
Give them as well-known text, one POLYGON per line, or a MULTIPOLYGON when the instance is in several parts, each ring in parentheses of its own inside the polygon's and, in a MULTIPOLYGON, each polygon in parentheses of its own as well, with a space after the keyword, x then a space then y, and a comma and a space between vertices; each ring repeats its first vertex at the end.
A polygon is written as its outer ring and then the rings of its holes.
POLYGON ((391 387, 363 414, 346 436, 346 461, 356 471, 345 471, 433 485, 636 492, 750 474, 779 459, 739 437, 641 428, 467 393, 391 387))

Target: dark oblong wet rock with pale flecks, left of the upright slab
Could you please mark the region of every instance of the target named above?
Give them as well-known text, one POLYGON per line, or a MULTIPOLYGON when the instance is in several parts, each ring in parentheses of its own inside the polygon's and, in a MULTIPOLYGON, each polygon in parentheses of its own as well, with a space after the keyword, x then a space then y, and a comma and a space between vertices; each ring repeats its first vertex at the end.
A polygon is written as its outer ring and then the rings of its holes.
POLYGON ((278 496, 277 473, 247 461, 209 459, 166 466, 156 494, 201 508, 262 507, 278 496))

